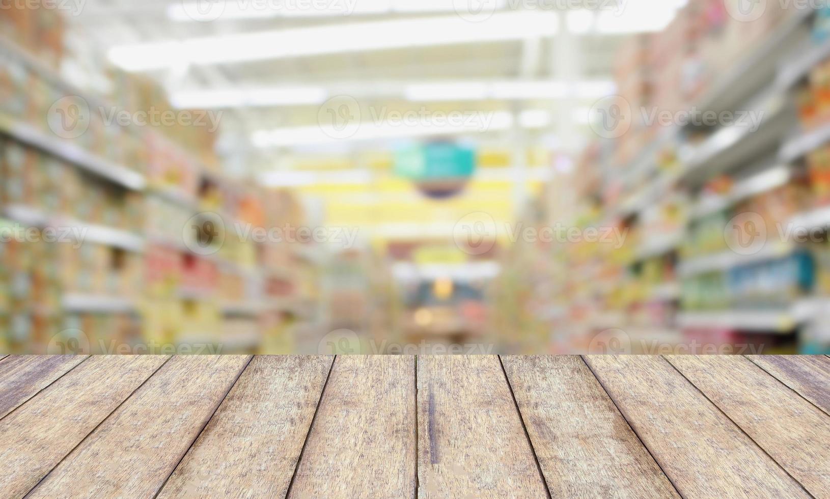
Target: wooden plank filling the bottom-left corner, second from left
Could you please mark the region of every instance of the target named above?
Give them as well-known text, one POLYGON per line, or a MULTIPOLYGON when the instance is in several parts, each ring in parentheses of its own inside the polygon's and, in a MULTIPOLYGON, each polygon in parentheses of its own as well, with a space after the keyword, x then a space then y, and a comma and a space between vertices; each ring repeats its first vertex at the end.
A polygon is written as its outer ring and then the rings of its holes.
POLYGON ((168 357, 97 356, 0 421, 0 490, 23 497, 168 357))

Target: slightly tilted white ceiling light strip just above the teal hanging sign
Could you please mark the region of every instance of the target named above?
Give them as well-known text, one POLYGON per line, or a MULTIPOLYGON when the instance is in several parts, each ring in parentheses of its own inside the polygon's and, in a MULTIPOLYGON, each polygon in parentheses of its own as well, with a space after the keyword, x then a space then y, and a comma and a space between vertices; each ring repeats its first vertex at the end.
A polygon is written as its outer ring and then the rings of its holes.
POLYGON ((405 123, 363 123, 348 137, 333 137, 321 126, 300 126, 276 130, 259 130, 251 140, 256 147, 270 148, 303 144, 325 144, 344 140, 399 139, 404 137, 425 137, 432 135, 464 135, 496 130, 508 130, 513 126, 513 115, 506 111, 488 113, 481 111, 471 114, 463 124, 442 122, 440 125, 428 122, 408 125, 405 123))

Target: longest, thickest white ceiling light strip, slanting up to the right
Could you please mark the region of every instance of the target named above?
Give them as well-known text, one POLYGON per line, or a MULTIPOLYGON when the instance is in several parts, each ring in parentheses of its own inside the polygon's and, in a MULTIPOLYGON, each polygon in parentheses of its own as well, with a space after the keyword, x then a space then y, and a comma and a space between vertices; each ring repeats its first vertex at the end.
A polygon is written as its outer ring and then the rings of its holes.
POLYGON ((556 34, 556 12, 499 12, 482 22, 459 16, 352 22, 271 32, 115 46, 109 56, 126 71, 181 65, 264 61, 414 46, 522 40, 556 34))

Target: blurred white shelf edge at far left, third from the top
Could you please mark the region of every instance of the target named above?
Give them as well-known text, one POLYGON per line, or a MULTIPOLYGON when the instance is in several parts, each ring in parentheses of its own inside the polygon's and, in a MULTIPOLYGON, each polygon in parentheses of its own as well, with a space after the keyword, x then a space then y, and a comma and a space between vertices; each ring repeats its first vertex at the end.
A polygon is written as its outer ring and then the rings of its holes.
POLYGON ((80 222, 71 218, 51 217, 36 208, 20 204, 7 206, 2 210, 5 216, 28 227, 56 227, 71 231, 71 235, 80 234, 81 241, 118 247, 129 252, 144 252, 144 238, 132 232, 80 222))

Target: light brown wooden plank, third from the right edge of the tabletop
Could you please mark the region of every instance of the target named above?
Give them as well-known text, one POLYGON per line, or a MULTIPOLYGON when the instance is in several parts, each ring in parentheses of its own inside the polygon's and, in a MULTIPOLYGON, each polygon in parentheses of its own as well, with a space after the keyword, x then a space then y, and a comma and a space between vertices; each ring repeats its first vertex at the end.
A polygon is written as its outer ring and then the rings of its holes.
POLYGON ((809 497, 662 357, 585 357, 683 497, 809 497))

